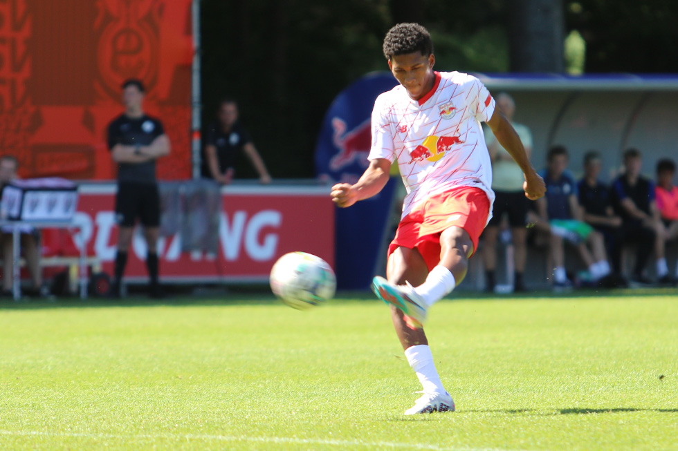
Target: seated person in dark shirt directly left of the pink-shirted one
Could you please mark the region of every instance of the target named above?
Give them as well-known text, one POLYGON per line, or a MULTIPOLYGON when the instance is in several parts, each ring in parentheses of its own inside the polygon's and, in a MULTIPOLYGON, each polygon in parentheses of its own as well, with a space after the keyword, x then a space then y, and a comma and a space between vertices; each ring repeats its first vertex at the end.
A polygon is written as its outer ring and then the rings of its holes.
POLYGON ((652 250, 657 258, 657 282, 672 285, 675 282, 668 274, 664 258, 664 233, 659 217, 659 209, 654 201, 654 183, 641 175, 643 160, 636 148, 624 153, 625 172, 612 184, 612 205, 621 216, 624 242, 636 242, 638 253, 634 265, 632 282, 650 285, 651 281, 643 275, 645 263, 652 250), (652 246, 648 243, 652 242, 652 246))

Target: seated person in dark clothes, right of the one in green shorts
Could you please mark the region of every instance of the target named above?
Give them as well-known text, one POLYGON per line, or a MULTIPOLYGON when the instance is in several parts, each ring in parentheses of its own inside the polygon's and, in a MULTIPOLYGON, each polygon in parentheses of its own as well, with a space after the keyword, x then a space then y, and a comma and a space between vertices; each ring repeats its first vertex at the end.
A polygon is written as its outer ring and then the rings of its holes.
MULTIPOLYGON (((584 222, 605 238, 605 248, 612 262, 612 282, 625 285, 621 268, 622 220, 612 208, 609 187, 598 179, 602 167, 600 153, 589 151, 584 155, 584 177, 577 184, 579 204, 584 209, 584 222)), ((646 245, 652 246, 652 242, 646 245)))

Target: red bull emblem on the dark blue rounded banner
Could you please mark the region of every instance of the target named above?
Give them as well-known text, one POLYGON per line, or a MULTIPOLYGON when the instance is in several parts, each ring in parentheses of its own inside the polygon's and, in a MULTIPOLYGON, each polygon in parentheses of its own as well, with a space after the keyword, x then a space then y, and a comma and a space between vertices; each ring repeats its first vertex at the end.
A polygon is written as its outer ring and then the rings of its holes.
POLYGON ((362 124, 350 131, 346 131, 346 122, 338 117, 332 119, 332 143, 339 149, 339 153, 329 160, 332 171, 339 171, 345 166, 358 161, 361 166, 367 167, 367 155, 372 145, 371 120, 367 119, 362 124))

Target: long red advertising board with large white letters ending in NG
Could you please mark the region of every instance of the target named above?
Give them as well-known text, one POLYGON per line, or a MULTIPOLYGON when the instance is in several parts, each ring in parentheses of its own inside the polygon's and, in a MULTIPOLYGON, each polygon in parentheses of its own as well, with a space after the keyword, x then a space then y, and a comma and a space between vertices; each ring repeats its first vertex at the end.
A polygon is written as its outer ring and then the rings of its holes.
MULTIPOLYGON (((82 229, 73 240, 63 231, 45 231, 48 252, 77 256, 75 243, 84 242, 88 256, 96 256, 112 275, 118 240, 115 191, 113 184, 80 186, 75 222, 82 229)), ((268 280, 275 260, 291 251, 313 253, 333 267, 334 209, 327 188, 229 186, 221 194, 217 254, 181 252, 180 233, 161 238, 161 280, 261 282, 268 280)), ((127 280, 147 280, 145 258, 145 240, 137 228, 125 271, 127 280)))

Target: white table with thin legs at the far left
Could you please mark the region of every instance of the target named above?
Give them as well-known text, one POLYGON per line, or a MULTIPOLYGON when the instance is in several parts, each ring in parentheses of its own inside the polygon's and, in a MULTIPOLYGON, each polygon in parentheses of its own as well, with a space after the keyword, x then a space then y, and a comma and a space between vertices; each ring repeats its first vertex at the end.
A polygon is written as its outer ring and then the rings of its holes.
MULTIPOLYGON (((30 226, 34 229, 66 229, 71 237, 76 231, 79 231, 80 224, 71 221, 0 221, 1 229, 12 229, 12 297, 14 300, 21 298, 21 228, 30 226)), ((80 298, 87 297, 87 267, 86 267, 86 249, 80 246, 80 256, 78 258, 78 280, 80 282, 80 298)), ((5 275, 7 277, 8 275, 5 275)))

